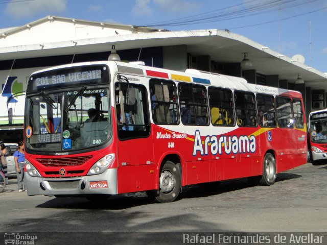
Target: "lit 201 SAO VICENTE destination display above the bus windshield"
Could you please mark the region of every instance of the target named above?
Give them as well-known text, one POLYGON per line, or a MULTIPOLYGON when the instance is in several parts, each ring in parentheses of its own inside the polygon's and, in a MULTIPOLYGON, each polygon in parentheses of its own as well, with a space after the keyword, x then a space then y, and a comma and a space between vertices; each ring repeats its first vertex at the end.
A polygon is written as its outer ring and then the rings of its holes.
POLYGON ((35 79, 35 84, 37 87, 39 87, 39 86, 46 86, 46 85, 53 85, 53 84, 83 82, 83 81, 96 80, 96 79, 101 79, 100 69, 39 77, 35 79))

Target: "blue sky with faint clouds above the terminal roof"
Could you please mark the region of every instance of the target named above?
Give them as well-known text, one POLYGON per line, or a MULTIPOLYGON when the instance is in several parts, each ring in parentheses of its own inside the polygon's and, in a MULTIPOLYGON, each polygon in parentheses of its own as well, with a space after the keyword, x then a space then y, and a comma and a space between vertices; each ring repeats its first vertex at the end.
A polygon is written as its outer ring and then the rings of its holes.
POLYGON ((227 29, 327 72, 327 0, 0 0, 0 29, 48 15, 170 31, 227 29))

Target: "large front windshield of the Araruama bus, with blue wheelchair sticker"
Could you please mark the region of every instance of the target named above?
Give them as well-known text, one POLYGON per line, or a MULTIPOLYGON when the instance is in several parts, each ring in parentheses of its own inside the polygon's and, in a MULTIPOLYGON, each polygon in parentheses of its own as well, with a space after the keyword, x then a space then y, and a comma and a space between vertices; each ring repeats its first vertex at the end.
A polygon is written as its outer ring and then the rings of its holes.
POLYGON ((27 97, 27 149, 66 152, 99 146, 109 139, 109 89, 70 88, 27 97))

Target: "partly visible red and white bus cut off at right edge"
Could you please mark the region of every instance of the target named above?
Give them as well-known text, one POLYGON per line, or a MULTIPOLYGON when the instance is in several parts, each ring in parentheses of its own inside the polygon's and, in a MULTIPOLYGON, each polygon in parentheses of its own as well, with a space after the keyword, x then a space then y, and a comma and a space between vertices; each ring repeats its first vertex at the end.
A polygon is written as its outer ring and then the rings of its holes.
POLYGON ((311 112, 308 128, 311 160, 327 159, 327 109, 311 112))

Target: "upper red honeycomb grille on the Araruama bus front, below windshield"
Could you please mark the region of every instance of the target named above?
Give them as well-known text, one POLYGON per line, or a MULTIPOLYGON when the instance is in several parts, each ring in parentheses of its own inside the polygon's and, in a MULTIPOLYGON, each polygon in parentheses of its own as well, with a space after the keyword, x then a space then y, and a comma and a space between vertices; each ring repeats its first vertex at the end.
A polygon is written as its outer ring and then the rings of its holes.
POLYGON ((45 167, 79 166, 90 160, 92 156, 63 157, 63 158, 36 158, 45 167))

